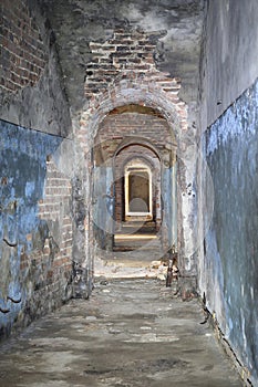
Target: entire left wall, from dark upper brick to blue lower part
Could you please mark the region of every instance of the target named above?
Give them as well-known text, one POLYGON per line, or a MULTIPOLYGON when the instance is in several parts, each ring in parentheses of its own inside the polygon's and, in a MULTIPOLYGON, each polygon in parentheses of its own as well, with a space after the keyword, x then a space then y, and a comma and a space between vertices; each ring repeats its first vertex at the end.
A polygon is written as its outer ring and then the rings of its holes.
POLYGON ((1 1, 0 338, 71 296, 70 112, 37 2, 1 1))

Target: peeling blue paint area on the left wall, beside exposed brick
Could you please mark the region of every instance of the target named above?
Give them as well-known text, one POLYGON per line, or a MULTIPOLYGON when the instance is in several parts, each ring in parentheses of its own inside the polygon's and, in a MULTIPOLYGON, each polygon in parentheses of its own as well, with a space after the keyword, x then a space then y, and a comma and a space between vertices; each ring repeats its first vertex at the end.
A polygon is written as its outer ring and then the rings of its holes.
POLYGON ((49 237, 45 221, 38 217, 38 202, 43 197, 47 156, 61 142, 61 137, 0 121, 0 307, 10 310, 0 313, 0 337, 19 318, 33 318, 21 317, 21 311, 28 308, 42 272, 35 268, 21 272, 20 261, 21 254, 29 257, 33 249, 42 249, 49 237), (21 302, 12 303, 8 295, 21 302))

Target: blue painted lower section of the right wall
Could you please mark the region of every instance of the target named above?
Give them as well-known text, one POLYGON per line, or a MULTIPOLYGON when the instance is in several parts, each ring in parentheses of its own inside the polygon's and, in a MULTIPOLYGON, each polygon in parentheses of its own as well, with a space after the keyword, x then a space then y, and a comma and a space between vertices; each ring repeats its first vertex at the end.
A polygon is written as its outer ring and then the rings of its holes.
POLYGON ((205 238, 208 306, 258 383, 258 82, 206 133, 214 216, 205 238))

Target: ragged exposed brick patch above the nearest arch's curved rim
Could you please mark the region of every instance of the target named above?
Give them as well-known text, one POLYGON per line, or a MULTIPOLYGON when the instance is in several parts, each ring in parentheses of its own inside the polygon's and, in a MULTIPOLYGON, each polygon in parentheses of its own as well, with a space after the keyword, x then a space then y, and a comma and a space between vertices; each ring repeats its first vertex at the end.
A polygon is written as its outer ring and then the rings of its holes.
POLYGON ((168 74, 157 71, 153 57, 161 35, 158 32, 117 30, 113 38, 104 43, 92 42, 90 49, 93 59, 86 69, 85 96, 92 98, 93 95, 100 94, 123 72, 125 79, 127 74, 134 77, 151 75, 149 82, 157 83, 178 102, 179 80, 168 79, 168 74))

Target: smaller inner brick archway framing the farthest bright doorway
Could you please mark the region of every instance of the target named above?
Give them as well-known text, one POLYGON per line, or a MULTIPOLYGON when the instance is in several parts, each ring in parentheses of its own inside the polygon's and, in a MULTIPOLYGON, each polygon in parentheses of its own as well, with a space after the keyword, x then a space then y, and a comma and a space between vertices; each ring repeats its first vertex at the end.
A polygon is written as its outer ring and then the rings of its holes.
POLYGON ((113 159, 116 226, 132 220, 161 224, 159 155, 142 138, 123 143, 113 159))

